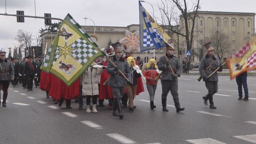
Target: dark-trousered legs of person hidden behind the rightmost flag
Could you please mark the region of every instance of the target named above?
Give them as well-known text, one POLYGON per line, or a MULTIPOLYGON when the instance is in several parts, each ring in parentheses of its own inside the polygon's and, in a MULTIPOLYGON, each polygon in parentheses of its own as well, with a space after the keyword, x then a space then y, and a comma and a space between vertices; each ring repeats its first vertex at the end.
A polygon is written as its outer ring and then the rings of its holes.
POLYGON ((242 85, 243 85, 245 90, 245 98, 243 100, 248 101, 249 94, 248 94, 248 87, 247 87, 247 72, 243 72, 240 75, 238 75, 236 77, 236 81, 238 84, 238 96, 239 96, 238 100, 243 99, 243 90, 242 90, 242 85))

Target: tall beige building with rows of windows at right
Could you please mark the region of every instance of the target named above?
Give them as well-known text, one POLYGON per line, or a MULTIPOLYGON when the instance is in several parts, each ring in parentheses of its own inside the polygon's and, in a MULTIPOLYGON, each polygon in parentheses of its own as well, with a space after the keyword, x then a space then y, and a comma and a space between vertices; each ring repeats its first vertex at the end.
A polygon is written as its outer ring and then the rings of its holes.
MULTIPOLYGON (((184 27, 183 17, 181 17, 180 24, 181 27, 184 27)), ((191 30, 192 20, 188 21, 188 25, 191 30)), ((255 13, 199 11, 198 17, 195 19, 192 50, 197 51, 201 47, 203 40, 206 37, 210 37, 213 30, 217 27, 221 32, 229 36, 231 43, 228 53, 224 56, 225 60, 254 37, 255 13)), ((184 29, 182 32, 185 33, 184 29)), ((180 37, 180 39, 184 45, 185 38, 180 37)), ((194 61, 199 61, 199 59, 195 58, 194 61)))

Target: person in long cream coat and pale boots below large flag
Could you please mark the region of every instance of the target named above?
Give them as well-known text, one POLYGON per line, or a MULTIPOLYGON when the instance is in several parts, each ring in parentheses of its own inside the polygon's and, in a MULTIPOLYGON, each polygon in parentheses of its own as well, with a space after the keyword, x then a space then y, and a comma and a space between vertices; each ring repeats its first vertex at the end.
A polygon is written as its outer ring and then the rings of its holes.
MULTIPOLYGON (((87 113, 98 113, 96 109, 97 99, 99 95, 99 86, 97 78, 101 75, 103 68, 105 67, 102 65, 92 63, 91 66, 82 75, 82 96, 86 96, 87 113), (90 109, 91 98, 92 110, 90 109)), ((82 105, 80 104, 80 106, 82 105)))

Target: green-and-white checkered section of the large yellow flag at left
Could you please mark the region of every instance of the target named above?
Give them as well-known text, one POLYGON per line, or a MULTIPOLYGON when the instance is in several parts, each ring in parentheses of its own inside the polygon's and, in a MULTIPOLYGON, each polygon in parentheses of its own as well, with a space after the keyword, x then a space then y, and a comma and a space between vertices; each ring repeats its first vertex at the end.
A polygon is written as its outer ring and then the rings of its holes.
POLYGON ((92 45, 82 38, 77 39, 71 47, 74 48, 74 50, 71 51, 73 57, 82 65, 85 64, 91 56, 98 53, 92 45))

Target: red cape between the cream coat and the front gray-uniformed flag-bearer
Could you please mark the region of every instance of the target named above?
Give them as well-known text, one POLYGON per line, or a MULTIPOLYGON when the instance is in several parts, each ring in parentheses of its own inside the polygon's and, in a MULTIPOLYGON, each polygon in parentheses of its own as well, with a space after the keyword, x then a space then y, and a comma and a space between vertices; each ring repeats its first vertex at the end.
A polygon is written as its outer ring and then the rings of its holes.
MULTIPOLYGON (((102 65, 107 66, 108 61, 102 65)), ((100 83, 100 94, 99 99, 113 99, 112 88, 110 86, 104 86, 103 83, 107 81, 110 77, 110 74, 107 72, 107 69, 104 69, 101 73, 101 83, 100 83)))

